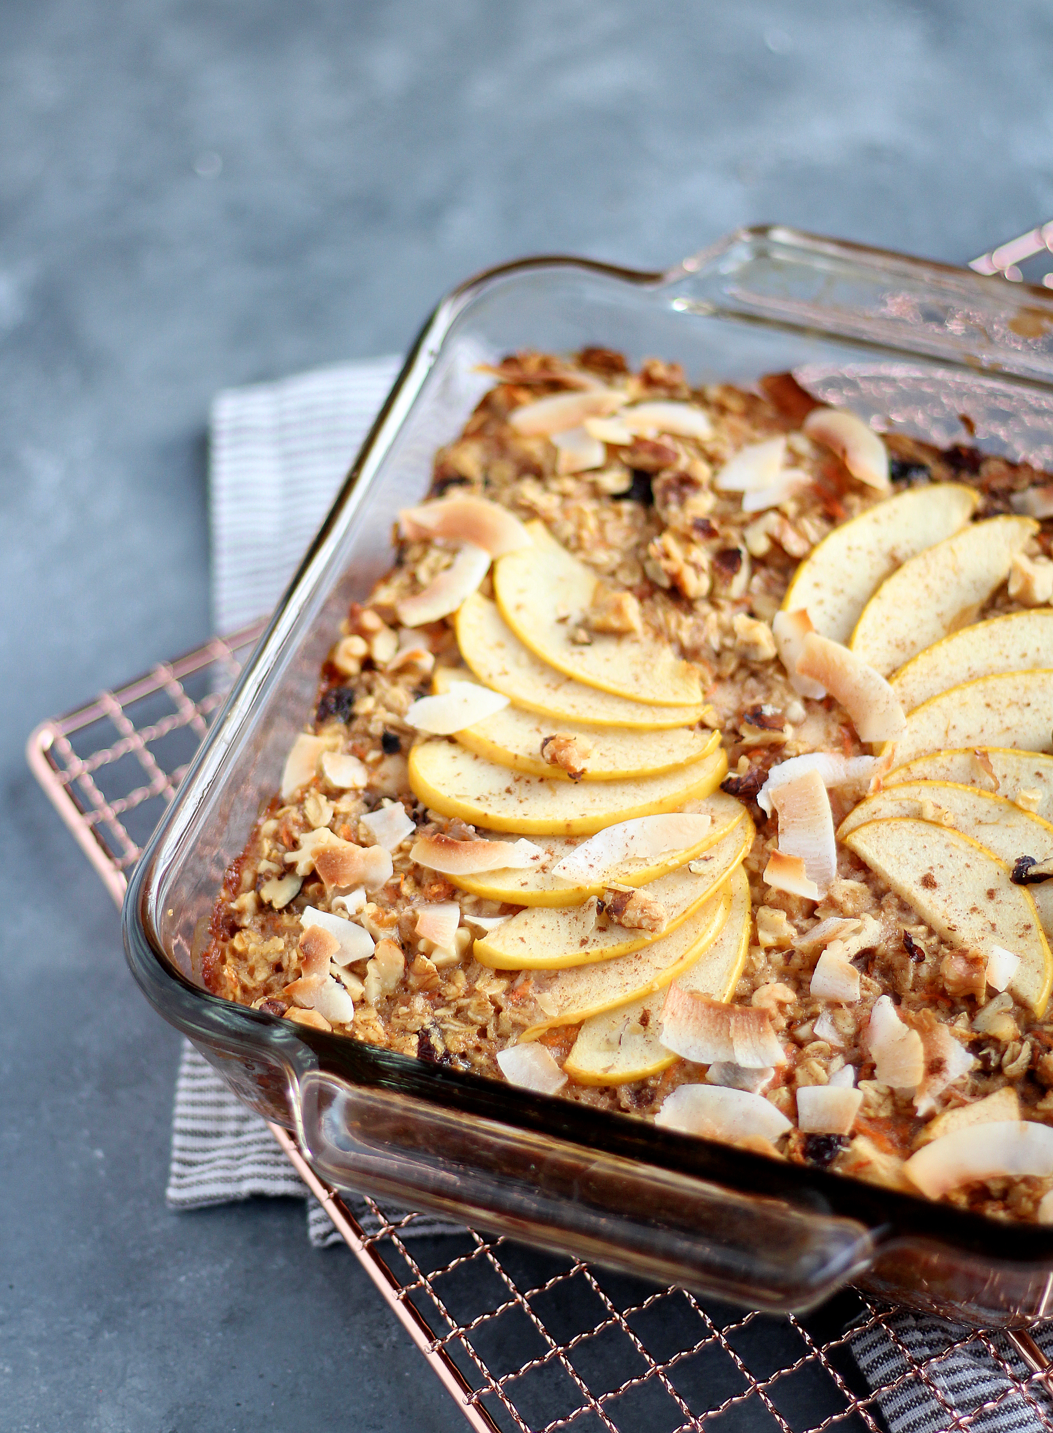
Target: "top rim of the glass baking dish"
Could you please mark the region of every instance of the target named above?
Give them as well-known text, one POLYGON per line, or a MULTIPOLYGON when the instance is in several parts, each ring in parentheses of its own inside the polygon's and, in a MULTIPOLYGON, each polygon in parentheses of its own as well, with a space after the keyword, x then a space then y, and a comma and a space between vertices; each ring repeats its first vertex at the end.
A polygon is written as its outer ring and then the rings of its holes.
MULTIPOLYGON (((513 259, 487 268, 456 285, 436 305, 410 348, 384 404, 370 428, 358 454, 341 484, 334 503, 315 535, 307 555, 278 603, 252 656, 212 724, 196 752, 175 800, 168 807, 143 856, 130 876, 122 909, 125 950, 132 973, 152 1005, 168 1015, 166 999, 182 1006, 186 1025, 201 1025, 201 1036, 208 1030, 261 1049, 298 1052, 311 1065, 345 1076, 354 1069, 362 1086, 397 1091, 408 1099, 424 1101, 477 1119, 497 1121, 513 1128, 530 1129, 563 1139, 585 1152, 629 1158, 721 1185, 741 1195, 782 1198, 798 1205, 811 1205, 818 1215, 834 1215, 858 1221, 877 1244, 903 1238, 931 1240, 940 1245, 979 1252, 1013 1264, 1034 1265, 1053 1260, 1053 1227, 989 1218, 953 1205, 871 1185, 865 1181, 830 1171, 776 1162, 732 1145, 659 1129, 630 1115, 596 1111, 559 1098, 546 1098, 500 1085, 483 1076, 427 1065, 413 1056, 380 1050, 347 1036, 330 1035, 301 1025, 277 1020, 274 1016, 251 1010, 193 984, 175 966, 153 933, 149 916, 152 877, 165 850, 178 841, 193 818, 198 805, 212 787, 218 762, 229 745, 229 734, 248 715, 252 698, 279 652, 308 595, 314 590, 314 575, 321 570, 335 542, 337 529, 350 522, 371 490, 371 476, 380 469, 393 447, 403 423, 440 355, 443 341, 457 317, 490 285, 509 277, 536 271, 569 268, 586 274, 613 278, 635 288, 660 289, 678 279, 696 274, 736 245, 751 241, 791 244, 817 255, 830 255, 868 265, 874 272, 910 274, 934 288, 967 288, 990 292, 997 278, 980 277, 970 269, 950 264, 918 259, 891 249, 874 248, 852 241, 840 241, 789 228, 787 225, 752 225, 738 228, 693 255, 666 269, 639 269, 619 264, 589 259, 580 255, 546 254, 513 259), (587 1128, 586 1128, 587 1122, 587 1128), (599 1142, 595 1136, 603 1134, 599 1142), (593 1138, 589 1138, 593 1136, 593 1138), (778 1176, 775 1176, 778 1171, 778 1176), (1023 1242, 1027 1250, 1020 1248, 1023 1242)), ((1026 284, 1006 285, 1006 298, 1019 299, 1021 291, 1042 301, 1053 321, 1053 295, 1049 289, 1026 284)), ((1016 307, 1016 305, 1014 305, 1016 307)), ((832 330, 814 330, 818 337, 844 341, 845 335, 832 330)), ((875 341, 885 353, 897 350, 875 341)), ((905 350, 915 358, 931 361, 924 350, 905 350)), ((953 365, 953 364, 951 364, 953 365)), ((961 364, 960 367, 966 367, 961 364)), ((976 370, 973 370, 976 373, 976 370)), ((983 374, 984 370, 980 370, 983 374)), ((994 370, 991 377, 1009 377, 1023 385, 1037 385, 1053 391, 1053 384, 1029 375, 1014 375, 994 370)), ((292 1060, 295 1063, 295 1060, 292 1060)))

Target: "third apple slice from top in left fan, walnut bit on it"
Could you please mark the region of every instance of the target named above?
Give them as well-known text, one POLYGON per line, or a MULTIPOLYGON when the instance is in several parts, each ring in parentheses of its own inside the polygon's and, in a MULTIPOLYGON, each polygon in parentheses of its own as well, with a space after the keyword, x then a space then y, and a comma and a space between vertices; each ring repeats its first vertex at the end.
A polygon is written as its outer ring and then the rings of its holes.
MULTIPOLYGON (((448 666, 436 671, 436 694, 460 681, 448 666)), ((679 727, 672 731, 617 731, 610 727, 586 727, 583 722, 554 721, 520 706, 506 706, 493 716, 463 727, 454 739, 487 761, 532 777, 570 781, 566 771, 542 757, 546 737, 573 737, 585 758, 582 781, 626 781, 630 777, 655 777, 675 771, 688 761, 699 761, 721 744, 719 731, 706 727, 679 727)))

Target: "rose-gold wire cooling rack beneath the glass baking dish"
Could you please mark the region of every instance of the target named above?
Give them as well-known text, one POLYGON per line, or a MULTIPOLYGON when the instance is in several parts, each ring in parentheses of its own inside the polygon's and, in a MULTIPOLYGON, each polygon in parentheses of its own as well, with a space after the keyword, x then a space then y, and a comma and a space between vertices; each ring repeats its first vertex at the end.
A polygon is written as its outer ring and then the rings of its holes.
MULTIPOLYGON (((160 662, 30 737, 34 774, 116 900, 259 631, 160 662)), ((414 1237, 414 1215, 374 1201, 357 1219, 272 1132, 477 1430, 980 1433, 1011 1413, 1053 1433, 1049 1364, 1027 1333, 930 1321, 920 1350, 895 1310, 855 1290, 778 1318, 470 1230, 414 1237), (984 1356, 991 1377, 963 1387, 963 1361, 984 1356)))

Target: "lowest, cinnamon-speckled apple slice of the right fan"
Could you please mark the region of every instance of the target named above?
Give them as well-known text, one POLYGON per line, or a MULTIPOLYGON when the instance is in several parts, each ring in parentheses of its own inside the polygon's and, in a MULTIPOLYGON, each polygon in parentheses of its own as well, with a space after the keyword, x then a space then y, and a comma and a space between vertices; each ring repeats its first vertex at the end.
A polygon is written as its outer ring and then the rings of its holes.
POLYGON ((944 940, 1019 956, 1009 989, 1036 1015, 1044 1012, 1053 956, 1027 887, 1013 884, 1004 861, 961 831, 910 817, 868 821, 844 844, 944 940))

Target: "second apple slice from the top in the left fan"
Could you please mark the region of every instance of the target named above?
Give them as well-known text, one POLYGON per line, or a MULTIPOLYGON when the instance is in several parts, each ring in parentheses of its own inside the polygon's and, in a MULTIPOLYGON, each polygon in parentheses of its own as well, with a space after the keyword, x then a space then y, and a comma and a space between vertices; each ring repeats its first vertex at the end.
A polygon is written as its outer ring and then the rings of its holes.
POLYGON ((711 709, 702 702, 650 706, 576 682, 524 646, 496 605, 480 593, 467 598, 457 612, 457 642, 461 656, 484 686, 503 692, 524 711, 542 712, 556 721, 659 731, 693 727, 711 709))

